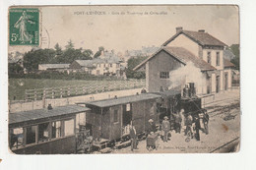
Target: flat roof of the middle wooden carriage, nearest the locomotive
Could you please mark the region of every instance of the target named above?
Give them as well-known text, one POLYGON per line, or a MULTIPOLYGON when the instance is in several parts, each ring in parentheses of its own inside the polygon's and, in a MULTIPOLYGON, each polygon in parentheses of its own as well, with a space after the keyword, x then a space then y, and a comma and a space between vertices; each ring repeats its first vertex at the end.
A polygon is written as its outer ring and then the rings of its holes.
POLYGON ((131 96, 124 96, 124 97, 111 98, 111 99, 105 99, 105 100, 91 101, 91 102, 87 102, 85 104, 94 105, 97 107, 109 107, 109 106, 126 104, 126 103, 131 103, 131 102, 142 101, 142 100, 155 99, 155 98, 159 98, 159 97, 160 97, 160 95, 158 95, 158 94, 143 93, 143 94, 139 94, 139 95, 131 95, 131 96))

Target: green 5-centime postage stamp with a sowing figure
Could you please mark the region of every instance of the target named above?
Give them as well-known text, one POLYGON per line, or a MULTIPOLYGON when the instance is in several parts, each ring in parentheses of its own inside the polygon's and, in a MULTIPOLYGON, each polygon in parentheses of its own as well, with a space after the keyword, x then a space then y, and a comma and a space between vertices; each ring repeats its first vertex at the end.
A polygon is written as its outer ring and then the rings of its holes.
POLYGON ((39 10, 37 8, 9 10, 9 44, 39 44, 39 10))

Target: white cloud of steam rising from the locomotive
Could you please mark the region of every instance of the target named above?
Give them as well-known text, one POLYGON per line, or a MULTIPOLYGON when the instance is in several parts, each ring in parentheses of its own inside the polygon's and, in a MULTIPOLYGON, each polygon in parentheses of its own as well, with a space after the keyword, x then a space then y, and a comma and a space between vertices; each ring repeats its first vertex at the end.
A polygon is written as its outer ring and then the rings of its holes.
POLYGON ((169 73, 169 88, 182 88, 186 83, 195 83, 196 88, 207 84, 205 75, 192 62, 169 73))

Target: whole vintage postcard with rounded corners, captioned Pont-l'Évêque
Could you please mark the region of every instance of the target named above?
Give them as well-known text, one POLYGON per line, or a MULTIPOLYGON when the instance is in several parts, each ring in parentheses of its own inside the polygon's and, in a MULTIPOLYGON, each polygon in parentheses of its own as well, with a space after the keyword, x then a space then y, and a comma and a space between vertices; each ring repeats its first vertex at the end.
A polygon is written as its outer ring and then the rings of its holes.
POLYGON ((15 154, 239 151, 236 5, 12 6, 15 154))

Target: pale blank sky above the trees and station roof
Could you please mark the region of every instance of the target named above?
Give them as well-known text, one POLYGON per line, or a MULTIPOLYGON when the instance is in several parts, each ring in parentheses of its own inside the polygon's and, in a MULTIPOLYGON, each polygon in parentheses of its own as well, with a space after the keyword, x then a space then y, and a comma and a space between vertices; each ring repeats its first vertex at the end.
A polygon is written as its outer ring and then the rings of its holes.
MULTIPOLYGON (((76 48, 124 52, 160 46, 175 33, 205 29, 227 45, 239 43, 236 6, 65 6, 40 7, 42 48, 56 43, 64 49, 71 39, 76 48)), ((10 47, 24 52, 31 47, 10 47)))

